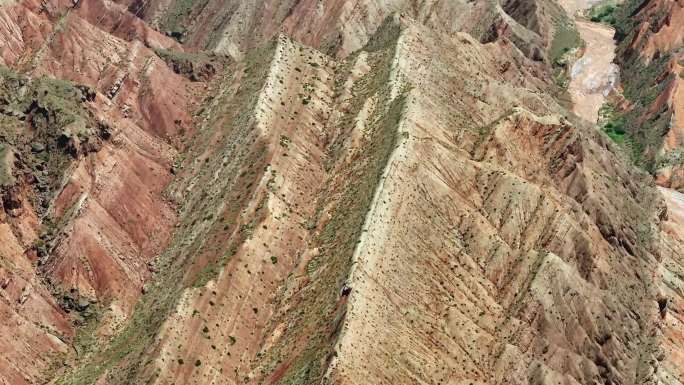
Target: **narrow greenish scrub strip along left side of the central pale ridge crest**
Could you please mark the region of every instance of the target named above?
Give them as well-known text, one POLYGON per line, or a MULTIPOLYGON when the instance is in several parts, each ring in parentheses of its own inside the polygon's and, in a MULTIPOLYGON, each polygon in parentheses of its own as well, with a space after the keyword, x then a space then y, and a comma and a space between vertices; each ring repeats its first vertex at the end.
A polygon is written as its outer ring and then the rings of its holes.
MULTIPOLYGON (((361 236, 365 215, 368 212, 375 189, 387 161, 399 140, 398 124, 405 99, 400 94, 390 99, 389 83, 391 61, 396 49, 399 26, 388 19, 365 48, 371 51, 373 71, 359 79, 350 100, 350 111, 341 120, 340 132, 347 133, 354 124, 354 117, 368 98, 377 98, 381 106, 369 117, 368 133, 363 157, 343 170, 344 187, 331 212, 331 218, 323 228, 317 243, 320 255, 307 266, 310 284, 302 289, 297 314, 288 314, 282 322, 297 319, 298 327, 288 329, 281 341, 268 356, 266 373, 278 369, 279 363, 288 361, 288 368, 278 381, 280 384, 316 383, 324 373, 325 357, 332 354, 332 347, 344 319, 344 306, 338 306, 339 293, 344 286, 351 267, 351 257, 361 236), (289 318, 294 317, 294 318, 289 318), (292 347, 298 348, 293 351, 292 347)), ((352 62, 354 58, 348 59, 352 62)), ((348 65, 348 64, 347 64, 348 65)), ((345 79, 348 67, 339 69, 340 79, 345 79)), ((337 82, 342 86, 343 81, 337 82)), ((344 144, 333 142, 328 147, 326 163, 333 167, 344 149, 344 144)), ((340 186, 330 185, 327 194, 336 194, 340 186)), ((315 226, 311 226, 315 228, 315 226)))

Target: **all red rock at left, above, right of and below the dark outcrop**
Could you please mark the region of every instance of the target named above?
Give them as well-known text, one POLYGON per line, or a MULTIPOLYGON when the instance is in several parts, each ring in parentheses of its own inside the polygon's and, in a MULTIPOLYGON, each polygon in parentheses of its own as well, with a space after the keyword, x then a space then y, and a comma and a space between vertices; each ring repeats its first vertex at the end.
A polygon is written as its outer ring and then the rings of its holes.
POLYGON ((27 257, 40 219, 30 194, 10 192, 22 205, 13 209, 21 212, 17 218, 5 215, 0 225, 0 319, 12 331, 0 337, 0 383, 42 383, 51 362, 70 349, 71 317, 44 281, 98 301, 116 328, 168 243, 176 214, 163 192, 181 138, 191 132, 199 89, 149 47, 180 49, 115 3, 27 0, 0 7, 3 64, 92 87, 96 97, 87 107, 111 128, 99 151, 73 161, 55 192, 49 215, 60 227, 40 273, 27 257))

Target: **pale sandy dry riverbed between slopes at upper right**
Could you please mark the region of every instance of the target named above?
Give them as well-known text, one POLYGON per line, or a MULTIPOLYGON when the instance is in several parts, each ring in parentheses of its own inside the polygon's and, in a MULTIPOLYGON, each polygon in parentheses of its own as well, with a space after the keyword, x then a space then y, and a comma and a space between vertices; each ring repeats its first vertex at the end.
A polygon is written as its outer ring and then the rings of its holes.
POLYGON ((619 68, 613 63, 615 31, 609 26, 583 20, 577 20, 576 24, 586 50, 572 67, 569 91, 574 112, 596 122, 603 101, 619 78, 619 68))

